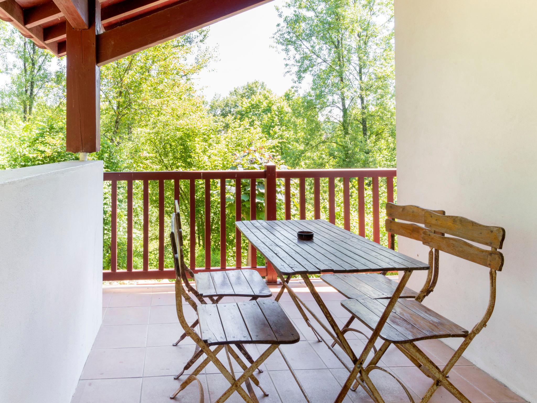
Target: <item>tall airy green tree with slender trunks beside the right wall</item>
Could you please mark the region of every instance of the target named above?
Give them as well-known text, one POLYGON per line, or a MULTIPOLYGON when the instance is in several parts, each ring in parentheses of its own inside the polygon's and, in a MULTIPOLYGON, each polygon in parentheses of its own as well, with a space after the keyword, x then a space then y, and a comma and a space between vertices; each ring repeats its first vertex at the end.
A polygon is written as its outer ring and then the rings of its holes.
POLYGON ((395 140, 393 2, 288 0, 278 12, 274 39, 288 73, 323 117, 315 146, 340 167, 395 157, 395 142, 385 141, 395 140))

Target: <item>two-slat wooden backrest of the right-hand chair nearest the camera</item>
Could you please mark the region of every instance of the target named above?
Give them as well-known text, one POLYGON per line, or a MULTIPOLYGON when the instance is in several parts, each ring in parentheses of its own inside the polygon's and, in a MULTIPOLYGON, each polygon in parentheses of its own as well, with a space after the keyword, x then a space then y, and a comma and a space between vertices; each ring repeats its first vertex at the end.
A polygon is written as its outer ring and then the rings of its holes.
POLYGON ((504 228, 483 225, 464 217, 441 215, 431 211, 425 212, 424 221, 427 228, 422 234, 425 245, 496 271, 502 270, 504 257, 496 249, 503 246, 504 228), (435 232, 458 238, 440 236, 435 232), (488 246, 490 250, 477 247, 467 241, 488 246))

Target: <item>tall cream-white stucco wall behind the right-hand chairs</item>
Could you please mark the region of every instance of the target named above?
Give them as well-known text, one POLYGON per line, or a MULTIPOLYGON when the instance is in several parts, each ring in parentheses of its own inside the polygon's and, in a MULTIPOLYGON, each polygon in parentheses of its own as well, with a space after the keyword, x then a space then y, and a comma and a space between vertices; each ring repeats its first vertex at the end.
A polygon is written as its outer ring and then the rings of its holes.
MULTIPOLYGON (((535 15, 534 0, 395 0, 397 201, 505 227, 497 305, 465 356, 529 401, 537 401, 535 15)), ((426 259, 415 242, 399 247, 426 259)), ((411 285, 421 284, 415 274, 411 285)), ((441 254, 425 304, 471 329, 488 292, 486 268, 441 254)))

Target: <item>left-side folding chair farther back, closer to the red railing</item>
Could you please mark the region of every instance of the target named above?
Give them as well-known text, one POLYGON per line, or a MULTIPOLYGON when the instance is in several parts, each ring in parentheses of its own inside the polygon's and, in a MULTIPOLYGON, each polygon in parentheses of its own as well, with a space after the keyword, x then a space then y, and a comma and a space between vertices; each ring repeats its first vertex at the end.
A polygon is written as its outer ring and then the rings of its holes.
MULTIPOLYGON (((213 304, 218 304, 224 297, 249 297, 250 300, 272 297, 272 292, 266 285, 263 277, 261 277, 256 270, 240 269, 233 271, 209 271, 194 274, 194 272, 192 272, 192 270, 185 264, 183 232, 181 228, 179 203, 177 200, 175 200, 175 214, 176 230, 179 241, 180 275, 188 292, 191 292, 201 304, 206 304, 205 298, 213 304), (190 284, 188 278, 194 279, 195 287, 190 284)), ((197 325, 198 320, 195 320, 190 326, 195 328, 197 325)), ((185 337, 186 333, 183 333, 179 337, 179 340, 173 343, 173 346, 177 346, 177 344, 179 344, 185 337)), ((253 358, 250 356, 249 352, 242 345, 237 346, 237 348, 246 360, 252 364, 253 358)), ((197 348, 183 370, 175 376, 175 379, 182 376, 183 373, 195 363, 201 354, 201 350, 197 348)), ((263 372, 261 369, 258 369, 258 371, 263 372)))

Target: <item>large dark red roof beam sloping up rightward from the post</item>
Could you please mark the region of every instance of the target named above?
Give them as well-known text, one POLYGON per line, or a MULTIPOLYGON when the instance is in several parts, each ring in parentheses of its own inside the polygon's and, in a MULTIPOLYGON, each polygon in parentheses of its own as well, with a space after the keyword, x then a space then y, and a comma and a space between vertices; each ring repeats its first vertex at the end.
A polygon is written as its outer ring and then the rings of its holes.
POLYGON ((269 1, 191 0, 157 11, 97 35, 97 64, 103 66, 269 1))

